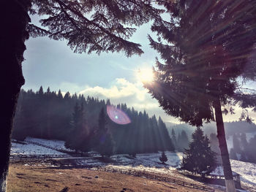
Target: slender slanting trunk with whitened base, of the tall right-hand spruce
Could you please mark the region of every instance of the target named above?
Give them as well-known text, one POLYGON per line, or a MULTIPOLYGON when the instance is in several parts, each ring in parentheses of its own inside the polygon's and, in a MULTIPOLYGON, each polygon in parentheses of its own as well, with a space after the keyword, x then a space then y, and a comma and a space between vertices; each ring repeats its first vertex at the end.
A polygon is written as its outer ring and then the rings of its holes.
POLYGON ((225 185, 227 192, 236 191, 233 174, 230 165, 230 158, 227 150, 227 142, 225 137, 225 128, 222 118, 222 108, 219 99, 214 101, 215 118, 217 123, 217 138, 219 139, 219 149, 222 155, 222 166, 225 176, 225 185))

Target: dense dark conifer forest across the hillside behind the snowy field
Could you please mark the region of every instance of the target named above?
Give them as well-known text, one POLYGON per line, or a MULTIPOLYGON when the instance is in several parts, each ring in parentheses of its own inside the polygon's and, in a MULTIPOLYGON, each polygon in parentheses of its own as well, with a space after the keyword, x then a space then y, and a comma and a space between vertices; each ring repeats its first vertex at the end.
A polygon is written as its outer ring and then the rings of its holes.
POLYGON ((114 123, 106 113, 110 100, 61 91, 20 91, 12 138, 61 139, 66 147, 80 152, 97 150, 102 155, 113 153, 154 153, 174 150, 165 123, 146 111, 138 112, 127 104, 116 108, 125 112, 131 123, 114 123))

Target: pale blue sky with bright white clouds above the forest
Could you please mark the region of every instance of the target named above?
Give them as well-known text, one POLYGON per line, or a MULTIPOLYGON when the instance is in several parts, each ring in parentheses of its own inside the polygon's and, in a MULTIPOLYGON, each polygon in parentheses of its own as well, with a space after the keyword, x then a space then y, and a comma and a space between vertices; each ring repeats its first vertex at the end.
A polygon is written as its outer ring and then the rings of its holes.
MULTIPOLYGON (((32 21, 37 24, 36 17, 32 21)), ((142 45, 144 54, 127 58, 124 53, 73 53, 65 41, 48 37, 30 38, 26 41, 23 75, 24 90, 44 90, 66 93, 81 93, 99 99, 110 99, 111 103, 127 103, 135 110, 146 110, 149 115, 161 115, 165 122, 180 123, 178 119, 165 115, 156 99, 152 99, 138 78, 138 70, 151 69, 159 54, 149 46, 147 34, 150 23, 141 26, 132 36, 132 42, 142 45)), ((255 85, 250 85, 251 87, 255 85)), ((236 115, 227 115, 224 120, 238 120, 236 115)))

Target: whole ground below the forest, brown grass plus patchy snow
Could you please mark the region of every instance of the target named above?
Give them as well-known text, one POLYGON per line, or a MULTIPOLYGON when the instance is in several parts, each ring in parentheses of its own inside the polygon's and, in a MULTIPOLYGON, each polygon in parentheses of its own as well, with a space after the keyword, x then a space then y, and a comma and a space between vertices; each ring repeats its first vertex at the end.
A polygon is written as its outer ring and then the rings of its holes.
MULTIPOLYGON (((25 142, 12 142, 12 155, 50 155, 55 156, 52 164, 57 166, 73 164, 83 167, 103 166, 114 169, 133 169, 139 172, 153 172, 156 175, 166 175, 186 183, 203 185, 189 177, 179 174, 177 169, 182 153, 166 152, 168 161, 166 164, 159 162, 161 153, 138 154, 136 158, 119 154, 111 156, 110 161, 102 161, 100 155, 90 152, 88 157, 71 158, 62 153, 67 151, 63 141, 27 138, 25 142), (60 155, 60 156, 59 156, 60 155), (61 158, 65 155, 65 158, 61 158), (57 158, 56 158, 57 156, 57 158), (67 156, 67 157, 66 157, 67 156)), ((12 162, 15 159, 12 158, 12 162)), ((17 161, 17 159, 16 159, 17 161)), ((20 159, 18 159, 20 161, 20 159)), ((58 169, 52 164, 39 163, 40 160, 26 159, 23 164, 10 165, 10 177, 8 191, 61 191, 69 187, 69 191, 193 191, 192 188, 184 188, 157 180, 149 180, 142 177, 133 177, 125 174, 96 172, 88 169, 58 169), (37 163, 33 163, 37 161, 37 163), (95 178, 98 175, 99 178, 95 178), (54 179, 53 179, 54 178, 54 179)), ((256 164, 231 160, 233 171, 241 174, 242 188, 250 192, 256 192, 256 164)), ((225 191, 219 185, 208 185, 215 190, 225 191)), ((197 190, 198 191, 198 190, 197 190)))

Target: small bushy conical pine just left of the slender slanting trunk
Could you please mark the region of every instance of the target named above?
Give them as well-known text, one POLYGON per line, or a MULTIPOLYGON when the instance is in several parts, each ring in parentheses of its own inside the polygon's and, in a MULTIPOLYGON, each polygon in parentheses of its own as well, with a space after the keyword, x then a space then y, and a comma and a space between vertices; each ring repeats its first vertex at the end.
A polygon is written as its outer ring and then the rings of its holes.
POLYGON ((197 127, 192 134, 189 148, 184 151, 181 169, 201 175, 209 174, 217 166, 215 155, 216 153, 211 150, 208 137, 204 136, 203 130, 197 127))

